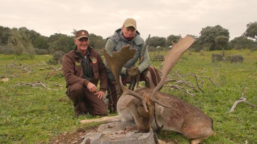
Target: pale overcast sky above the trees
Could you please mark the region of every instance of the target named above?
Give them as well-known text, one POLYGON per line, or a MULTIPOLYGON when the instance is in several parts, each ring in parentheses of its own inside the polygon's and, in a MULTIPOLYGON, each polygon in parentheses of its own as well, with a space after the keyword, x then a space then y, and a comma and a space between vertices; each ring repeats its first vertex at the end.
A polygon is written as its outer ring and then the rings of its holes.
POLYGON ((107 38, 126 18, 134 18, 141 37, 199 36, 206 26, 228 29, 230 40, 257 21, 257 0, 0 0, 0 25, 25 26, 41 35, 72 35, 73 29, 107 38))

